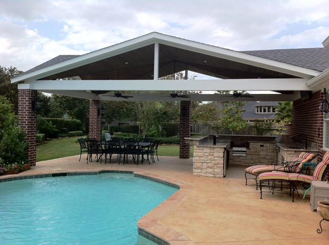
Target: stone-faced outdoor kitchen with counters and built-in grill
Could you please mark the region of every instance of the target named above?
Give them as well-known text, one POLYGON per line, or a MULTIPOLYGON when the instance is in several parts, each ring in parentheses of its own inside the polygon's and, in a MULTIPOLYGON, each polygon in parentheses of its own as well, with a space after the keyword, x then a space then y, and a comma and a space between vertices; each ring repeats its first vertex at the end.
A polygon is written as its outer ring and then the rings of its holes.
POLYGON ((208 135, 186 138, 194 145, 193 175, 222 178, 229 165, 273 165, 301 152, 317 154, 307 138, 291 136, 208 135), (302 142, 302 143, 300 143, 302 142))

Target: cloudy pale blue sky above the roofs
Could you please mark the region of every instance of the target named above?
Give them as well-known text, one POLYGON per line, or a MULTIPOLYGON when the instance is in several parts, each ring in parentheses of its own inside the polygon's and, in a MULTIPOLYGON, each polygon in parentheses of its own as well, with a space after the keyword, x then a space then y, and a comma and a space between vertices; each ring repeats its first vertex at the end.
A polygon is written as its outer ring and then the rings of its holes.
POLYGON ((329 0, 0 0, 0 66, 27 71, 150 32, 236 51, 323 47, 329 0))

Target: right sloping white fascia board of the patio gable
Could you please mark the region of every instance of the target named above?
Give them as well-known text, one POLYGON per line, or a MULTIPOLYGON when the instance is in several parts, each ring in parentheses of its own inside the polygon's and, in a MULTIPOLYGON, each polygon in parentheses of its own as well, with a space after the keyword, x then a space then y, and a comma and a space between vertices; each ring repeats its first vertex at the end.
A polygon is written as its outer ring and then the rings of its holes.
POLYGON ((197 43, 190 40, 180 39, 172 36, 165 36, 158 40, 159 44, 173 46, 180 49, 185 49, 197 53, 203 53, 210 56, 224 58, 255 67, 260 67, 272 71, 282 72, 289 75, 294 75, 302 78, 311 79, 318 75, 320 72, 302 68, 298 66, 289 65, 286 63, 278 62, 276 60, 258 57, 251 54, 245 54, 239 51, 224 49, 207 44, 197 43))

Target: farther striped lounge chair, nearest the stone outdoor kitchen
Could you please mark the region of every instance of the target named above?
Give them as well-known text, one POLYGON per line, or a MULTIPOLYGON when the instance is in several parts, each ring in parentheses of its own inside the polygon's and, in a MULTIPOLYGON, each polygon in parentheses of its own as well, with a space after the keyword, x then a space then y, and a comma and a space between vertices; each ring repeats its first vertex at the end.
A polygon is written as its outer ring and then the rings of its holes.
POLYGON ((288 162, 283 162, 279 165, 255 165, 245 169, 245 179, 247 185, 247 179, 254 179, 256 181, 256 190, 258 190, 257 177, 261 173, 281 171, 281 172, 296 172, 299 173, 302 170, 303 162, 311 162, 317 157, 312 153, 302 152, 297 157, 288 162), (247 174, 253 175, 252 178, 247 178, 247 174))

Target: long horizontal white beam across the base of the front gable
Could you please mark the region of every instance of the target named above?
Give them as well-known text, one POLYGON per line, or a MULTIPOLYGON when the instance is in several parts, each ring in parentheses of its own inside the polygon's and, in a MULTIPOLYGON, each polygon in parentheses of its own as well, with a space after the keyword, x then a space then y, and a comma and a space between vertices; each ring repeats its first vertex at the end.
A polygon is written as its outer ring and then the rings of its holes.
POLYGON ((35 90, 108 91, 213 91, 213 90, 311 90, 304 78, 205 79, 205 80, 36 80, 35 90))

